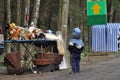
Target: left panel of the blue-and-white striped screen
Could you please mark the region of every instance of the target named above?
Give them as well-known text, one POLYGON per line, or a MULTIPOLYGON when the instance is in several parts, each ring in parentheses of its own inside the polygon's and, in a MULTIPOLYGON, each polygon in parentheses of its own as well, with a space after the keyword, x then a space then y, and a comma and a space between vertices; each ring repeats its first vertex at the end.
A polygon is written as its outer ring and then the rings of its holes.
POLYGON ((103 52, 106 50, 105 25, 92 27, 92 51, 103 52))

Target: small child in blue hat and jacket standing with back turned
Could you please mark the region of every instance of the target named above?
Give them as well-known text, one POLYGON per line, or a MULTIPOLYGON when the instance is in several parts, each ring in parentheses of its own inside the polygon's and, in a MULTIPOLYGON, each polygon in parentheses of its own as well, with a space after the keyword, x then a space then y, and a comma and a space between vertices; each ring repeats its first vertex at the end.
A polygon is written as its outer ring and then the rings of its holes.
POLYGON ((80 60, 81 53, 83 51, 84 43, 80 39, 80 29, 74 28, 72 31, 73 38, 70 39, 68 49, 70 52, 70 62, 72 67, 71 73, 79 73, 80 72, 80 60))

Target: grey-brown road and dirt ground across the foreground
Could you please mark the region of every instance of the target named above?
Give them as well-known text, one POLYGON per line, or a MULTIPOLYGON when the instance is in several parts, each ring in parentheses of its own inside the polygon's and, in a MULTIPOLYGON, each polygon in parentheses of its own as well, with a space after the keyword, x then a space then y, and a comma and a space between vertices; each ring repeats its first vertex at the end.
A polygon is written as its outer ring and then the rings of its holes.
POLYGON ((80 74, 69 74, 70 69, 40 74, 24 73, 22 75, 3 75, 0 80, 120 80, 120 57, 81 63, 80 74))

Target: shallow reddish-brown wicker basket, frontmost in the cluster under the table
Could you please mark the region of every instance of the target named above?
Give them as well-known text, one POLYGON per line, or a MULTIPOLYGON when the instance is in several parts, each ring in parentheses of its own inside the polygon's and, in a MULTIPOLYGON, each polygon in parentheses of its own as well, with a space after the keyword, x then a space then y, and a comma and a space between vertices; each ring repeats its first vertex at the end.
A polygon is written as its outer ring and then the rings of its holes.
POLYGON ((34 59, 33 64, 34 65, 49 65, 51 64, 51 59, 34 59))

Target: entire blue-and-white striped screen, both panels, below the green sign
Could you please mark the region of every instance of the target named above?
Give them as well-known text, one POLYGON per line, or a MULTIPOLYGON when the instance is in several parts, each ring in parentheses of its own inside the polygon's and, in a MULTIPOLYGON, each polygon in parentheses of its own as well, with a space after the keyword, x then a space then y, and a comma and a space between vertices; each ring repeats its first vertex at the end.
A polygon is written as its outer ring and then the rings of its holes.
POLYGON ((92 51, 118 52, 118 31, 120 23, 92 26, 92 51))

